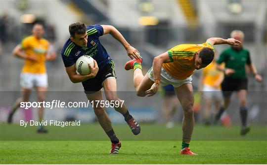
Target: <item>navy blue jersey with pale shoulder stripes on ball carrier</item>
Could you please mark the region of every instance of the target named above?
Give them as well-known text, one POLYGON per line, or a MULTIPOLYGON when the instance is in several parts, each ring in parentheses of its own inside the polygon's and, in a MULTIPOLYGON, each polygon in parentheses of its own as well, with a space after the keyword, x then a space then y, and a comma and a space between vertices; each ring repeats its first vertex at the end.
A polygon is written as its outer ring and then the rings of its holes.
POLYGON ((110 57, 106 49, 102 46, 99 41, 99 36, 103 35, 104 30, 100 25, 88 26, 87 35, 88 42, 87 47, 83 48, 76 45, 69 38, 64 44, 64 47, 61 51, 61 57, 64 62, 65 67, 72 66, 76 63, 79 57, 83 55, 88 55, 92 57, 99 67, 99 71, 103 69, 104 66, 109 64, 110 57))

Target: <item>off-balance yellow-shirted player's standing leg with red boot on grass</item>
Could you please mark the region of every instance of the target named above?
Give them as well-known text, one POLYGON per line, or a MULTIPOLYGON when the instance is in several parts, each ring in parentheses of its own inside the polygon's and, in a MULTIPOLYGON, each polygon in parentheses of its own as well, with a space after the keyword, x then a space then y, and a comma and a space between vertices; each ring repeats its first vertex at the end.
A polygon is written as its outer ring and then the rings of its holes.
POLYGON ((177 97, 183 109, 182 120, 182 150, 183 155, 197 155, 190 151, 189 144, 194 128, 194 93, 191 83, 185 83, 178 88, 175 88, 177 97))

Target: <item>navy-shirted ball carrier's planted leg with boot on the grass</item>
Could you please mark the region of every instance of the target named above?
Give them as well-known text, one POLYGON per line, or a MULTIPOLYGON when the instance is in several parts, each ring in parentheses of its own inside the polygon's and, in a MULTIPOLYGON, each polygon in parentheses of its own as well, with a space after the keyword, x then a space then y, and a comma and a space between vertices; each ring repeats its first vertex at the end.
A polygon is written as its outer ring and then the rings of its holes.
POLYGON ((118 139, 118 137, 116 136, 116 134, 112 128, 111 120, 108 117, 108 114, 106 113, 105 108, 101 107, 100 104, 98 104, 98 105, 96 104, 96 101, 103 100, 101 90, 98 92, 92 93, 92 94, 87 94, 86 96, 90 100, 90 102, 94 101, 94 103, 93 103, 94 114, 96 115, 98 123, 100 124, 102 129, 104 130, 104 132, 106 132, 106 134, 110 138, 110 141, 112 143, 110 154, 118 154, 119 149, 121 147, 121 142, 118 139))

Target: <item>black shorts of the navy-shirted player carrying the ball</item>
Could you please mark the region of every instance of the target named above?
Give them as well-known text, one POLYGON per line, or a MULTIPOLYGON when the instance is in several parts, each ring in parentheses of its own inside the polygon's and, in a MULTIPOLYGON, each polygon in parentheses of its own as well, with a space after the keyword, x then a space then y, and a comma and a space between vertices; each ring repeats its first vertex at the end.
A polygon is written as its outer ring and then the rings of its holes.
POLYGON ((101 71, 98 71, 94 78, 82 82, 85 94, 92 94, 103 88, 102 83, 109 77, 116 77, 114 70, 114 62, 110 61, 101 71))

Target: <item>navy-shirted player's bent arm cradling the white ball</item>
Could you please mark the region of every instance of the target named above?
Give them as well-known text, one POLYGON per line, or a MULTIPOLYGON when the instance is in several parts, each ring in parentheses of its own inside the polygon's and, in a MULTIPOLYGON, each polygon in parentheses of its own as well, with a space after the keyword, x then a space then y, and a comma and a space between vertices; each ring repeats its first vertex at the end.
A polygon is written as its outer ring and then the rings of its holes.
POLYGON ((87 75, 81 75, 81 74, 77 74, 76 72, 76 68, 75 68, 75 64, 69 67, 65 67, 66 72, 71 80, 71 82, 73 83, 79 83, 79 82, 83 82, 86 81, 90 78, 94 78, 99 70, 96 61, 93 61, 94 63, 94 67, 88 65, 90 67, 90 74, 87 75))

